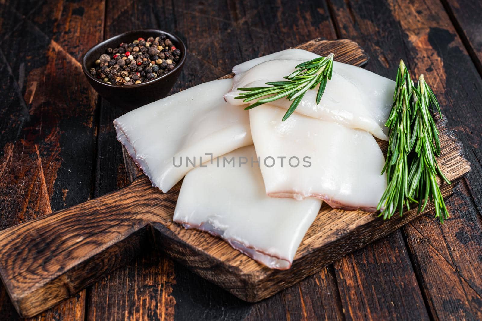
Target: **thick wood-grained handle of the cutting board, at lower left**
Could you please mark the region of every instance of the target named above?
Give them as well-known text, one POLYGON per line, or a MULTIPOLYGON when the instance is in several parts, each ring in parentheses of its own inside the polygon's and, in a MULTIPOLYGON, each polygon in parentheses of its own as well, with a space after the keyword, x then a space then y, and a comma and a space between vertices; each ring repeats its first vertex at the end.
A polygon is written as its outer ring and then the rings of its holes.
POLYGON ((149 246, 149 223, 164 211, 163 195, 152 193, 142 176, 123 189, 1 231, 0 276, 21 316, 54 306, 149 246))

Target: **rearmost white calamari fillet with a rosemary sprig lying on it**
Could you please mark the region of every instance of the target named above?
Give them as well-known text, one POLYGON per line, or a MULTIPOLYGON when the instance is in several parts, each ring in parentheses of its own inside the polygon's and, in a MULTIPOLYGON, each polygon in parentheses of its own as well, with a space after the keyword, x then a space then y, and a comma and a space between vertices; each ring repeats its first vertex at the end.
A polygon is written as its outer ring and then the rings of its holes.
MULTIPOLYGON (((335 53, 336 54, 336 53, 335 53)), ((264 87, 268 81, 286 80, 301 62, 319 57, 301 49, 288 49, 249 60, 233 68, 233 89, 224 97, 233 105, 246 104, 234 99, 242 87, 264 87)), ((336 58, 336 56, 335 56, 336 58)), ((371 71, 339 62, 333 63, 333 77, 328 81, 320 104, 316 104, 318 86, 304 95, 295 112, 309 117, 336 121, 353 129, 363 129, 388 140, 385 122, 393 102, 395 82, 371 71)), ((256 100, 249 102, 254 104, 256 100)), ((270 104, 289 108, 291 101, 278 99, 270 104)))

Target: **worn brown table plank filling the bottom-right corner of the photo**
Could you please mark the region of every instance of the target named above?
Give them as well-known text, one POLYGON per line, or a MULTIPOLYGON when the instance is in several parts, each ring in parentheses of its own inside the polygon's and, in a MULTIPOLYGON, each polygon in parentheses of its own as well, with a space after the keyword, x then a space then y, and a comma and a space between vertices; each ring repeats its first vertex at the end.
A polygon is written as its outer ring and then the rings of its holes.
POLYGON ((414 268, 434 319, 481 320, 482 224, 465 184, 447 208, 452 217, 442 226, 428 213, 404 227, 414 268))

